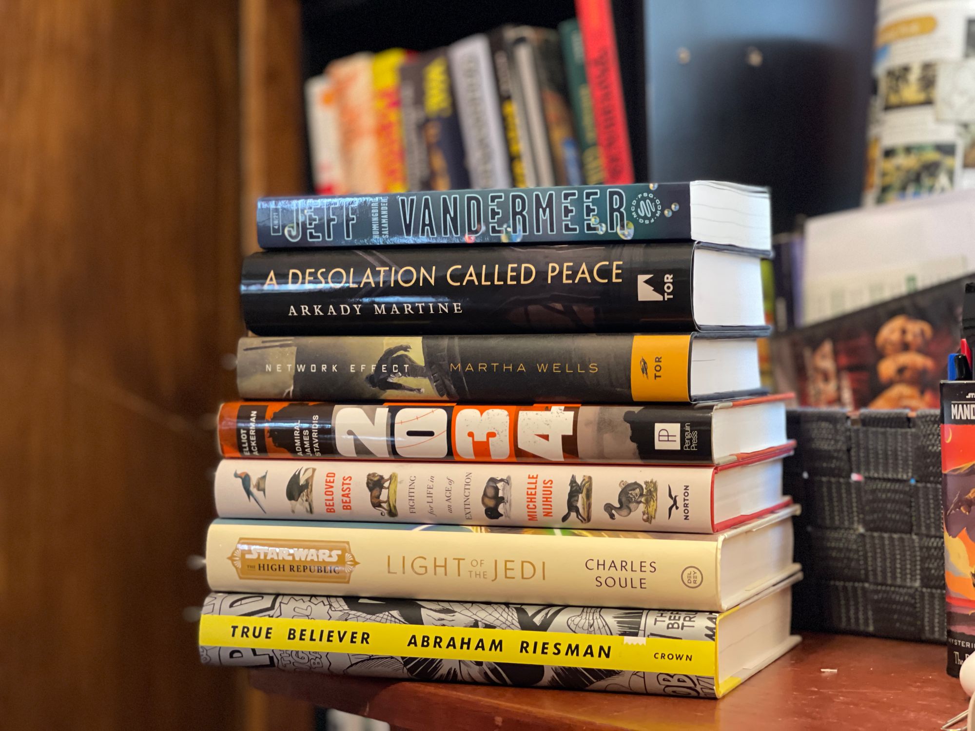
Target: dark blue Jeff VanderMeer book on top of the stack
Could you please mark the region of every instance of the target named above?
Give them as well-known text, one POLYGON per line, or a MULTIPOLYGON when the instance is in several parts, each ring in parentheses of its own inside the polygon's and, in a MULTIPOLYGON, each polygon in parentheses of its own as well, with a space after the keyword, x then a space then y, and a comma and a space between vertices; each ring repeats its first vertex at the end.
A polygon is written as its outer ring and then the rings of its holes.
MULTIPOLYGON (((406 67, 403 76, 410 78, 406 67)), ((767 253, 768 190, 694 180, 257 201, 262 249, 620 240, 699 241, 767 253)))

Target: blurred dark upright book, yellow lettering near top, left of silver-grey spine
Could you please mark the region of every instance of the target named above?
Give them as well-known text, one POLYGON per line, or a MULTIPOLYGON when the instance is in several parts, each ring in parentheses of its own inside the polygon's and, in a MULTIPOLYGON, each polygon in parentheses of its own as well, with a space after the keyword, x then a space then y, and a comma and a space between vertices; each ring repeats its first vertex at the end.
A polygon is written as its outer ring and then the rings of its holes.
POLYGON ((423 138, 430 161, 430 187, 434 190, 467 188, 471 184, 464 155, 464 138, 450 82, 446 49, 422 57, 423 138))

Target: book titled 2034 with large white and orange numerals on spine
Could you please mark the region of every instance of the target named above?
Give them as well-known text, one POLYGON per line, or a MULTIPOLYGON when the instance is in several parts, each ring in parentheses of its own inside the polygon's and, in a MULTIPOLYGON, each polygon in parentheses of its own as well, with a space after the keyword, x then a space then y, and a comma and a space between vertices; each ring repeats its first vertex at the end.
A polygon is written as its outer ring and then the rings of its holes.
POLYGON ((224 457, 714 464, 788 442, 792 394, 703 404, 220 406, 224 457))

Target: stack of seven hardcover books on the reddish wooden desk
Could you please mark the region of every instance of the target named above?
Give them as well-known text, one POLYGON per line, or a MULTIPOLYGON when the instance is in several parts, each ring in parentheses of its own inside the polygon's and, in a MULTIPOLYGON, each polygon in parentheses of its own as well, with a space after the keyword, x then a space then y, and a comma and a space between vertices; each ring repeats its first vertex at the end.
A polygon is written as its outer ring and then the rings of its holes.
POLYGON ((264 199, 257 227, 205 663, 718 697, 799 641, 764 190, 264 199))

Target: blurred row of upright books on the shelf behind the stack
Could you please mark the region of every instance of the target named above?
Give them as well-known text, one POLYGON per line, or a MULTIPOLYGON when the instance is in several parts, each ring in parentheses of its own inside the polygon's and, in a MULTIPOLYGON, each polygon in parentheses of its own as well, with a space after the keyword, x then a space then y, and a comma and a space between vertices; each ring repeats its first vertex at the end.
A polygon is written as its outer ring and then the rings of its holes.
POLYGON ((316 192, 633 182, 612 14, 584 10, 331 61, 304 88, 316 192))

